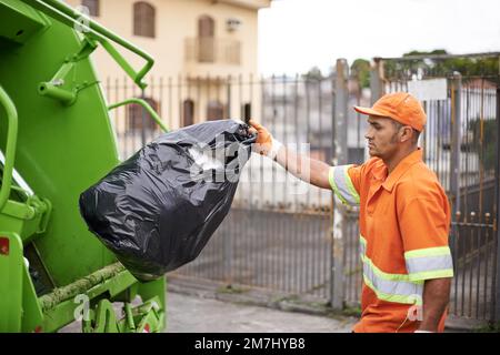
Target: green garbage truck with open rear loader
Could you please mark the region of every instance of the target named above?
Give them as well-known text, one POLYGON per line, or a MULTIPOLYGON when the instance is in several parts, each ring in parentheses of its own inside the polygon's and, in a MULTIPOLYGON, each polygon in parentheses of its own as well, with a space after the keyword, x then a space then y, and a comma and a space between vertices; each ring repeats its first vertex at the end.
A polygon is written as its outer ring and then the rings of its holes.
POLYGON ((153 59, 59 0, 0 0, 0 332, 161 332, 166 280, 136 280, 81 219, 119 163, 92 64, 102 47, 141 89, 153 59), (143 59, 133 68, 121 54, 143 59))

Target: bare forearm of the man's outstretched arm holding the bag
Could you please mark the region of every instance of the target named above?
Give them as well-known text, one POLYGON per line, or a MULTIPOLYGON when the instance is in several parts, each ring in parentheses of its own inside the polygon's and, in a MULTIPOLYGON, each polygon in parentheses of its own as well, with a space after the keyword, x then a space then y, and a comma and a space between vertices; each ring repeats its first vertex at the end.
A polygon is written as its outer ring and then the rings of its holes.
POLYGON ((330 165, 282 146, 274 159, 296 178, 318 187, 330 189, 328 171, 330 165))

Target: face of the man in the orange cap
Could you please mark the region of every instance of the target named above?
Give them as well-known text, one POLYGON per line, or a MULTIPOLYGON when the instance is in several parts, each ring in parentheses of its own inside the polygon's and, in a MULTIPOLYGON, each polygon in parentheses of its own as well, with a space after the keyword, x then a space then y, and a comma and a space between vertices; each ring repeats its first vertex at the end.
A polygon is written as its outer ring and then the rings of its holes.
POLYGON ((391 119, 370 115, 364 138, 368 140, 370 156, 389 159, 399 146, 398 133, 391 119))

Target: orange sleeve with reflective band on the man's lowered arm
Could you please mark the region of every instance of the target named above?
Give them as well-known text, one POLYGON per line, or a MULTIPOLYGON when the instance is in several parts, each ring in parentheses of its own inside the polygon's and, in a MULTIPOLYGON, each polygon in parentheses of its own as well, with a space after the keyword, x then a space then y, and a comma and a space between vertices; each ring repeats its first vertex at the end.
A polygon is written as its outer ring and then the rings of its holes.
POLYGON ((413 197, 400 212, 399 225, 410 281, 453 277, 448 244, 449 206, 446 197, 413 197))

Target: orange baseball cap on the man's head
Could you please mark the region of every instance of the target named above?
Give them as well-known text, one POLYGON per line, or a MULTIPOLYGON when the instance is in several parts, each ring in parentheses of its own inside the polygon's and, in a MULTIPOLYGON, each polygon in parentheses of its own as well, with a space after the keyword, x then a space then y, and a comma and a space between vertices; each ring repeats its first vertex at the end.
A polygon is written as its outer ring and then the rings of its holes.
POLYGON ((362 114, 381 115, 390 118, 402 124, 410 125, 419 132, 423 131, 427 122, 420 102, 408 92, 394 92, 384 94, 373 108, 354 106, 354 110, 362 114))

